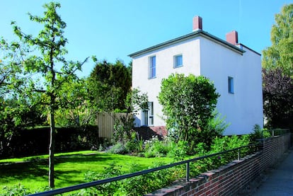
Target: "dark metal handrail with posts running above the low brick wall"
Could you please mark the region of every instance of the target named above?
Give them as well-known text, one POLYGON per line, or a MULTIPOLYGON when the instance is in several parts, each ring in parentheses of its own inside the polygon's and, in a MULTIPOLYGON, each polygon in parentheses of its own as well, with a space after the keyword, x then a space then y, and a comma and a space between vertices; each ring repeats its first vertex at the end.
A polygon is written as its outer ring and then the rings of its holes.
POLYGON ((123 179, 126 179, 126 178, 132 178, 132 177, 135 177, 135 176, 138 176, 138 175, 144 175, 144 174, 147 174, 147 173, 152 173, 152 172, 155 172, 155 171, 160 171, 160 170, 163 170, 163 169, 172 168, 172 167, 183 165, 183 164, 186 164, 185 180, 189 181, 190 180, 190 162, 200 161, 202 159, 209 158, 209 157, 212 157, 212 156, 219 156, 221 154, 227 154, 227 153, 232 152, 232 151, 237 152, 238 159, 240 160, 241 159, 241 149, 252 147, 252 146, 258 147, 258 145, 259 145, 259 143, 250 144, 250 145, 247 145, 247 146, 238 147, 236 149, 231 149, 231 150, 227 150, 227 151, 221 151, 219 153, 209 154, 209 155, 206 155, 206 156, 200 156, 200 157, 197 157, 197 158, 191 158, 189 160, 180 161, 180 162, 177 162, 177 163, 171 163, 171 164, 168 164, 166 166, 160 166, 160 167, 157 167, 157 168, 151 168, 151 169, 144 170, 144 171, 138 171, 138 172, 135 172, 135 173, 130 173, 130 174, 126 174, 126 175, 120 175, 120 176, 113 177, 113 178, 107 178, 107 179, 104 179, 104 180, 96 180, 96 181, 93 181, 93 182, 90 182, 90 183, 82 183, 82 184, 79 184, 79 185, 73 185, 73 186, 69 186, 67 188, 58 188, 58 189, 55 189, 55 190, 48 190, 48 191, 45 191, 45 192, 38 192, 38 193, 35 193, 35 194, 32 194, 32 195, 35 195, 35 196, 37 196, 37 195, 47 196, 47 195, 62 194, 62 193, 65 193, 65 192, 71 192, 71 191, 80 190, 80 189, 83 189, 83 188, 91 188, 93 186, 102 185, 102 184, 105 184, 105 183, 112 183, 112 182, 115 182, 117 180, 123 180, 123 179))

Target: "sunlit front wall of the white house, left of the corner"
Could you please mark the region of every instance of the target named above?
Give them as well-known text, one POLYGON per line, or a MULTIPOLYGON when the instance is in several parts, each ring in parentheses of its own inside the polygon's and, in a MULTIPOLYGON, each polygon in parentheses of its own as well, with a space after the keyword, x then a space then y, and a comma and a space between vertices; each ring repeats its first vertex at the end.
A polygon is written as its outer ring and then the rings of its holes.
MULTIPOLYGON (((154 102, 154 126, 164 126, 162 108, 157 96, 161 91, 162 79, 172 73, 200 75, 200 40, 195 38, 170 45, 154 52, 132 59, 132 87, 147 93, 150 102, 154 102), (173 56, 183 55, 183 67, 173 68, 173 56), (149 79, 149 57, 156 55, 156 78, 149 79)), ((137 115, 135 126, 140 127, 142 114, 137 115)))

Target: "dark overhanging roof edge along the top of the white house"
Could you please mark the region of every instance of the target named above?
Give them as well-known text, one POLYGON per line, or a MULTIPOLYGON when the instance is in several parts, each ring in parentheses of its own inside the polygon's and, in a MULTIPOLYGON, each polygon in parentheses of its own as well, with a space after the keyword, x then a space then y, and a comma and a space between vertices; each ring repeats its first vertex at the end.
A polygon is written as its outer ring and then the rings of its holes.
POLYGON ((239 47, 237 47, 235 45, 232 45, 229 42, 226 42, 226 40, 222 40, 220 38, 217 38, 216 36, 214 36, 212 34, 209 34, 209 33, 205 32, 203 30, 196 30, 193 33, 189 33, 187 35, 180 36, 180 37, 175 38, 173 40, 168 40, 166 42, 162 42, 159 45, 154 45, 154 46, 148 47, 148 48, 146 48, 144 50, 139 50, 138 52, 134 52, 132 54, 129 54, 128 56, 129 57, 137 57, 137 56, 145 54, 147 52, 152 52, 152 51, 158 50, 158 49, 160 49, 162 47, 173 45, 173 44, 176 44, 178 42, 183 42, 184 40, 190 40, 190 39, 196 38, 198 36, 202 36, 204 38, 207 38, 209 40, 217 42, 219 45, 223 45, 224 47, 228 47, 229 49, 234 50, 235 52, 238 52, 239 54, 243 54, 243 52, 245 52, 245 50, 242 50, 241 48, 239 48, 239 47))

